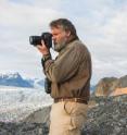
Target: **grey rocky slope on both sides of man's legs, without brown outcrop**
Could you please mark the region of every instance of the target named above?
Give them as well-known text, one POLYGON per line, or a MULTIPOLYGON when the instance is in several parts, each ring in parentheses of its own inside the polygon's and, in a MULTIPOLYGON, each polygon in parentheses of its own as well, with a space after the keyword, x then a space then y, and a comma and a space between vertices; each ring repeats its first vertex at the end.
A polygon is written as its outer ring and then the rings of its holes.
MULTIPOLYGON (((92 97, 81 135, 126 135, 127 95, 92 97)), ((0 135, 48 135, 50 107, 31 113, 21 123, 0 123, 0 135)))

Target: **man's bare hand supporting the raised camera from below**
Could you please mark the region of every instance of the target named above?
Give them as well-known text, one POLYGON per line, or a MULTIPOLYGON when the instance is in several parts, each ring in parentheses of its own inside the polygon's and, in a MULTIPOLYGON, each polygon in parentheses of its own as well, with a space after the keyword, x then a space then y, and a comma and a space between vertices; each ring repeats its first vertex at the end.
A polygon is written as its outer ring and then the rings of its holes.
POLYGON ((50 54, 50 50, 45 45, 43 40, 41 40, 41 45, 38 45, 37 48, 40 51, 40 53, 42 53, 42 56, 50 54))

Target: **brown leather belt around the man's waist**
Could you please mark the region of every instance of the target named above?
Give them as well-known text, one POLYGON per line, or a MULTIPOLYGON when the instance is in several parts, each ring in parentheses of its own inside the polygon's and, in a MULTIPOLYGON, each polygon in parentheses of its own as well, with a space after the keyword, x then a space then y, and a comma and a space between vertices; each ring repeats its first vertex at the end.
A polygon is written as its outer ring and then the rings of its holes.
POLYGON ((88 105, 87 100, 84 100, 81 98, 55 98, 54 102, 61 102, 61 101, 73 101, 73 102, 79 102, 79 103, 85 103, 88 105))

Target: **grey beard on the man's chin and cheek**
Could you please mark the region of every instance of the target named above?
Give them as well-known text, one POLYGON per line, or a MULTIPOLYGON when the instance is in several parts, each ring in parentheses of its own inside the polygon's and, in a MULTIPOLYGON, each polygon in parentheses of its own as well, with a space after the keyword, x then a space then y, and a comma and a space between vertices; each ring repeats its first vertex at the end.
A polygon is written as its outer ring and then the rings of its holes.
POLYGON ((54 42, 54 50, 55 51, 58 51, 58 52, 60 52, 65 46, 66 46, 66 42, 67 42, 67 40, 66 39, 64 39, 64 40, 62 40, 61 42, 54 42))

